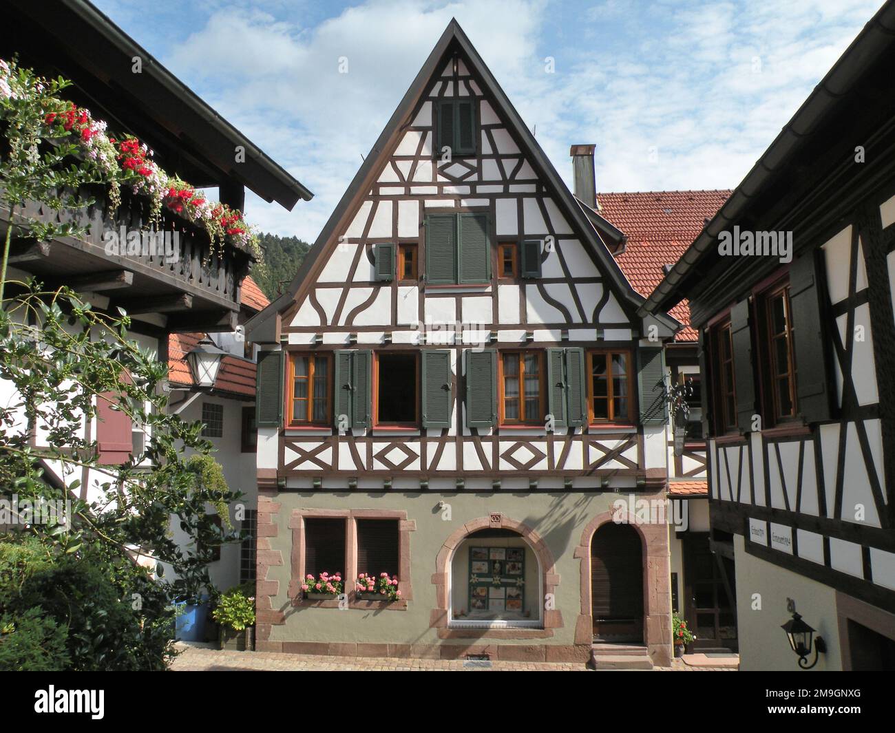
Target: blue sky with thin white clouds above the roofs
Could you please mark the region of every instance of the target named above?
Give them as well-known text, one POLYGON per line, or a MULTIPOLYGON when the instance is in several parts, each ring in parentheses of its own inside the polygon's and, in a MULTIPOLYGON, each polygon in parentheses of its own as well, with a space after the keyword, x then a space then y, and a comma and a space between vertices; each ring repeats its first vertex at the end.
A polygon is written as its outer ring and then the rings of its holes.
POLYGON ((569 145, 596 143, 598 191, 658 191, 739 183, 882 4, 94 2, 316 194, 246 200, 252 224, 307 241, 451 17, 567 183, 569 145))

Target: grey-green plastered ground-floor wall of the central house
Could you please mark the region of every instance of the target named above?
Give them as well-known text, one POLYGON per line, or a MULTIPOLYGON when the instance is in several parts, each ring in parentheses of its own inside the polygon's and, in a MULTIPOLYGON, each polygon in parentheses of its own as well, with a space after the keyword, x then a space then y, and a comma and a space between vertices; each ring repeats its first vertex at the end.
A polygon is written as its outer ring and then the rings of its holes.
MULTIPOLYGON (((580 560, 573 558, 573 551, 581 540, 585 525, 594 516, 609 511, 612 503, 619 498, 626 498, 626 494, 281 492, 273 498, 281 507, 277 517, 278 536, 271 539, 271 547, 282 550, 285 565, 270 567, 268 579, 280 583, 280 594, 273 605, 275 609, 286 611, 286 624, 273 626, 270 641, 449 643, 440 641, 437 629, 429 626, 430 611, 437 606, 435 586, 431 584, 431 575, 436 572, 436 556, 444 541, 466 522, 488 516, 491 512, 500 512, 541 535, 553 554, 556 572, 560 575, 556 608, 562 611, 564 626, 555 629, 551 638, 539 640, 538 643, 574 644, 575 621, 581 612, 581 571, 580 560), (450 505, 450 519, 442 518, 444 512, 439 508, 439 501, 450 505), (416 522, 416 531, 411 533, 410 539, 413 601, 410 601, 408 609, 293 608, 286 597, 292 550, 292 531, 288 525, 292 511, 299 508, 406 510, 407 518, 416 522)), ((639 494, 638 498, 652 497, 639 494)), ((536 584, 533 585, 536 587, 536 584)), ((468 644, 470 640, 456 641, 468 644)), ((531 644, 530 641, 527 643, 531 644)))

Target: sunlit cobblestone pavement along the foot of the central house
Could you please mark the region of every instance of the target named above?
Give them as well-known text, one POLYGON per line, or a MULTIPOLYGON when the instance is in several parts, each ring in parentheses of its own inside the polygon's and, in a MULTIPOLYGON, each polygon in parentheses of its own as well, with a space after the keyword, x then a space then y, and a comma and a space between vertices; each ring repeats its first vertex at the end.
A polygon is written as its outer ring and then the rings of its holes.
MULTIPOLYGON (((278 652, 222 652, 206 646, 176 644, 180 655, 171 664, 175 671, 590 671, 584 664, 566 662, 418 660, 381 657, 323 657, 311 654, 278 652)), ((674 660, 674 667, 661 671, 722 671, 720 669, 686 667, 674 660)))

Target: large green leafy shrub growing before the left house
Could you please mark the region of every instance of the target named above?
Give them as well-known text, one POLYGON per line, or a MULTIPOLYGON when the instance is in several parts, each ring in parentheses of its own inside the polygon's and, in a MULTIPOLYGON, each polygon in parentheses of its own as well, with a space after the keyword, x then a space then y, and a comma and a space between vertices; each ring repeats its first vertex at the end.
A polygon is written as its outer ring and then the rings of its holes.
MULTIPOLYGON (((124 312, 95 311, 68 288, 33 281, 4 306, 0 380, 13 398, 0 404, 0 499, 21 528, 13 547, 30 537, 39 552, 9 550, 20 559, 0 567, 0 587, 45 588, 47 614, 68 628, 66 669, 164 669, 174 654, 174 602, 209 592, 215 548, 244 536, 222 531, 207 507, 223 519, 242 495, 223 482, 201 423, 167 412, 167 366, 129 340, 124 312), (142 452, 120 465, 101 465, 83 430, 85 419, 101 419, 103 401, 145 430, 142 452), (88 499, 73 499, 85 469, 88 499), (19 505, 70 504, 65 516, 21 524, 13 495, 19 505), (172 524, 185 541, 175 541, 172 524), (43 575, 30 575, 41 563, 43 575)), ((0 613, 14 623, 28 607, 0 594, 0 613)))

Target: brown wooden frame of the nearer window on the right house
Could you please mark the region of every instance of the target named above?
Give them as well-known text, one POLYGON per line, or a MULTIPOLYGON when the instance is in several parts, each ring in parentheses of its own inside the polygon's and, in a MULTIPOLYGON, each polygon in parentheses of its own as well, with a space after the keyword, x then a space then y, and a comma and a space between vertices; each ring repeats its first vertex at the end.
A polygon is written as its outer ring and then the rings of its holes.
POLYGON ((764 427, 769 428, 785 422, 794 422, 798 420, 798 396, 796 388, 797 368, 796 354, 794 352, 794 338, 792 325, 792 306, 789 299, 789 278, 783 278, 775 281, 772 286, 766 288, 761 293, 756 294, 755 303, 758 309, 758 318, 756 322, 758 328, 759 354, 763 357, 760 361, 758 369, 758 384, 760 391, 760 402, 762 405, 764 427), (782 297, 784 307, 786 309, 786 327, 781 334, 773 335, 771 333, 771 301, 782 297), (773 341, 778 338, 785 338, 787 341, 787 369, 780 373, 777 364, 777 350, 774 348, 773 341), (789 404, 791 405, 790 413, 782 414, 780 412, 780 396, 777 393, 777 382, 781 377, 786 376, 789 381, 789 404))

